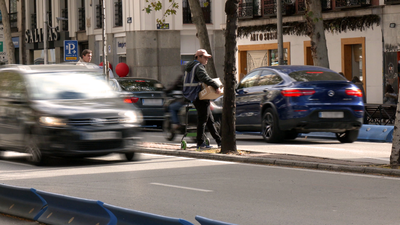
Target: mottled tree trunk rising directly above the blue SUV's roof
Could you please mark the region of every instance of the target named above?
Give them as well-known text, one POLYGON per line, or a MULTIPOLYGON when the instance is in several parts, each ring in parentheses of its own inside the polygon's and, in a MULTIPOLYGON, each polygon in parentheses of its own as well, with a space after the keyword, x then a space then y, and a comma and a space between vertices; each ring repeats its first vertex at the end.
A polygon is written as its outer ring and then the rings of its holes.
POLYGON ((329 68, 321 0, 306 0, 307 35, 311 38, 314 66, 329 68))

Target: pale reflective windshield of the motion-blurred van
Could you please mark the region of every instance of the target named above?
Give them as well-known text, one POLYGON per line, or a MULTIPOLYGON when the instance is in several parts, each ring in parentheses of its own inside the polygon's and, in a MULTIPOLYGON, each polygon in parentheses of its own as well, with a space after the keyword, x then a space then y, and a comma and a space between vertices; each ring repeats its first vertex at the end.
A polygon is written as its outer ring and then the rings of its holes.
POLYGON ((27 77, 31 99, 114 98, 115 92, 97 73, 36 73, 27 77))

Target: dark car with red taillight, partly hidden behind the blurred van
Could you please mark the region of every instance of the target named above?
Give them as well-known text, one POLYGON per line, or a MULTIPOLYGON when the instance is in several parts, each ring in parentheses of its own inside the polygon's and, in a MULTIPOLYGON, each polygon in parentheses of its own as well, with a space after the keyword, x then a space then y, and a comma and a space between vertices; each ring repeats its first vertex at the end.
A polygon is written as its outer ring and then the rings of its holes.
POLYGON ((144 127, 162 128, 164 122, 165 87, 150 78, 121 77, 111 79, 110 84, 125 102, 142 111, 144 127))

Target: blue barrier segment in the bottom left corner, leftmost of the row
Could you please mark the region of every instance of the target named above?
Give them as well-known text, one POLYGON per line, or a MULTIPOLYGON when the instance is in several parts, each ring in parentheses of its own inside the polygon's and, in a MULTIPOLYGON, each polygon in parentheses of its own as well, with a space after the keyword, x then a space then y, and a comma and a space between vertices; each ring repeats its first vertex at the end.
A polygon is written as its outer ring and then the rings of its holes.
POLYGON ((46 201, 33 188, 0 184, 0 212, 37 220, 46 210, 46 201))

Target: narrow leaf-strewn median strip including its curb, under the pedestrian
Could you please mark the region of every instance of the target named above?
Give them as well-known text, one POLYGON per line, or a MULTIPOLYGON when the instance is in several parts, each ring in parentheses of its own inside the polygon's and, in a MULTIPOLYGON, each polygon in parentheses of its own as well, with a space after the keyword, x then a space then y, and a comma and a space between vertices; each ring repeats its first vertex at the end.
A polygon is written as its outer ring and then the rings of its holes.
POLYGON ((387 165, 373 164, 369 162, 240 151, 240 149, 238 149, 239 154, 236 155, 219 154, 218 151, 218 149, 196 151, 196 148, 191 147, 191 145, 189 145, 187 150, 181 150, 179 144, 151 142, 142 143, 137 150, 137 152, 141 153, 400 177, 400 169, 390 169, 387 165))

